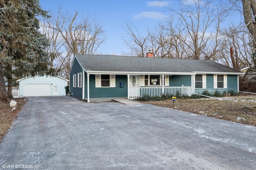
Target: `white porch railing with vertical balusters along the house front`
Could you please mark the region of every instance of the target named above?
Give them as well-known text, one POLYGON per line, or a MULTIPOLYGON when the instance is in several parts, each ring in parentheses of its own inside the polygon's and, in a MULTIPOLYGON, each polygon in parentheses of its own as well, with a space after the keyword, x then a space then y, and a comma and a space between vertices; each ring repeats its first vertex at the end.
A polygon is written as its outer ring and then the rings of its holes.
MULTIPOLYGON (((132 87, 130 88, 130 99, 142 97, 144 95, 149 96, 162 96, 162 87, 132 87)), ((175 95, 179 92, 180 95, 193 94, 193 87, 180 86, 180 87, 164 87, 164 94, 175 95)))

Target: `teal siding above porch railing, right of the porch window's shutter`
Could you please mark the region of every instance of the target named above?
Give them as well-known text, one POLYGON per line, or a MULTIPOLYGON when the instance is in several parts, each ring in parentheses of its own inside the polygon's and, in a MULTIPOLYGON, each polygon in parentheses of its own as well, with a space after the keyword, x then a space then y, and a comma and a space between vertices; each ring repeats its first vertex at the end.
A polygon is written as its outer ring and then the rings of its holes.
POLYGON ((169 79, 170 87, 191 86, 191 76, 172 75, 169 79))

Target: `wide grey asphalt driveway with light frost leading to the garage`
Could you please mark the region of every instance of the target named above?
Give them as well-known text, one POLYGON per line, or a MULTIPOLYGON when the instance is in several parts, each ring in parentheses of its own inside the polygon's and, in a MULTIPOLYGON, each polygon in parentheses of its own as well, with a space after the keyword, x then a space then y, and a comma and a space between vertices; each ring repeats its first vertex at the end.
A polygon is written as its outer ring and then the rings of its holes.
POLYGON ((0 169, 255 170, 256 127, 148 104, 28 98, 0 169))

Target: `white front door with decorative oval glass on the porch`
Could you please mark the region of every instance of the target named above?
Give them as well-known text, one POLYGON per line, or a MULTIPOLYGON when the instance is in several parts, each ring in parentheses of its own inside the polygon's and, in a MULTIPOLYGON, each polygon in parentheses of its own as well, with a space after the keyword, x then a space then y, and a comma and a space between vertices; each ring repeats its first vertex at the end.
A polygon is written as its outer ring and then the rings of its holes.
POLYGON ((130 97, 136 98, 140 96, 140 80, 139 75, 130 75, 129 80, 129 88, 130 88, 130 97))

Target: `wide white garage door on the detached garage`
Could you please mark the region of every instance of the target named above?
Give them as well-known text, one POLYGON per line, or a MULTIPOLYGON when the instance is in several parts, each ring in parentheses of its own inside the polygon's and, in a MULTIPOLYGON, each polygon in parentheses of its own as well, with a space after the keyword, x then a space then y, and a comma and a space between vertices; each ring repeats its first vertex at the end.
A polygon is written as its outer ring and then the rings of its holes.
POLYGON ((25 84, 24 97, 29 96, 51 96, 50 84, 25 84))

